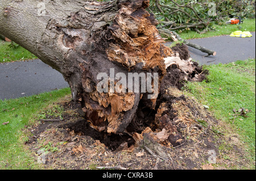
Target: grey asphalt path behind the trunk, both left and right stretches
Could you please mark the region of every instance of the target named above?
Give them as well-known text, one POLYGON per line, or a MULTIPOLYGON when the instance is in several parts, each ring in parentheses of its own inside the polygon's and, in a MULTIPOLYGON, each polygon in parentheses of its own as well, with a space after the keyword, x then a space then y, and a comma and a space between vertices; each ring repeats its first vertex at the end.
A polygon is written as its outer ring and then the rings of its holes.
MULTIPOLYGON (((252 37, 217 36, 205 39, 189 40, 205 48, 217 52, 216 56, 205 57, 207 54, 189 47, 193 60, 200 65, 226 64, 237 60, 255 58, 255 32, 252 37)), ((171 43, 167 43, 170 45, 171 43)), ((15 99, 46 91, 68 87, 63 76, 44 64, 42 61, 31 60, 0 64, 0 99, 15 99)))

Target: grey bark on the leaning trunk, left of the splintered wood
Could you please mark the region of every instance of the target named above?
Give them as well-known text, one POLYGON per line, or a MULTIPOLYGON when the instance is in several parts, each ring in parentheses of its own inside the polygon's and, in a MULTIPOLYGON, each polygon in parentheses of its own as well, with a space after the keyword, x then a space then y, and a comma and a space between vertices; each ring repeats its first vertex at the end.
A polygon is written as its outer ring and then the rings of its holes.
MULTIPOLYGON (((73 56, 77 52, 69 43, 69 37, 73 37, 73 44, 80 43, 77 49, 90 46, 87 43, 82 44, 81 40, 88 41, 90 33, 112 22, 117 10, 116 5, 107 5, 103 10, 92 11, 90 9, 99 8, 90 3, 79 0, 1 0, 0 33, 60 71, 76 96, 75 80, 81 75, 77 75, 77 68, 70 66, 67 61, 68 56, 73 56)), ((84 61, 80 56, 75 57, 77 63, 84 61)))

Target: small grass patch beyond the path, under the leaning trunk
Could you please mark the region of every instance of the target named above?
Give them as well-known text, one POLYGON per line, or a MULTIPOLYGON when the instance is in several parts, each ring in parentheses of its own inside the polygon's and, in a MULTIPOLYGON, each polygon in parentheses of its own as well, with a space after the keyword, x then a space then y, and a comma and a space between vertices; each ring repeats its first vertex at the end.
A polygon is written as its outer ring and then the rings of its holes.
POLYGON ((32 60, 37 57, 28 50, 10 42, 0 40, 0 64, 3 62, 32 60))

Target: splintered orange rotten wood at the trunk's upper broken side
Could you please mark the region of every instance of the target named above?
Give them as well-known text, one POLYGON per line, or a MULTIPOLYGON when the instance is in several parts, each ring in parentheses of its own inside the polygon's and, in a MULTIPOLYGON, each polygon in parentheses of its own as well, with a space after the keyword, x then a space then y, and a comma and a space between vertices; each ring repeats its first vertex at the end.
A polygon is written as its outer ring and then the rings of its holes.
POLYGON ((155 22, 149 19, 150 14, 144 10, 122 9, 115 18, 111 32, 115 43, 106 51, 108 58, 132 69, 136 65, 143 69, 154 69, 159 66, 164 70, 163 57, 170 56, 171 49, 165 47, 164 39, 159 35, 155 22), (118 41, 122 41, 120 44, 118 41))

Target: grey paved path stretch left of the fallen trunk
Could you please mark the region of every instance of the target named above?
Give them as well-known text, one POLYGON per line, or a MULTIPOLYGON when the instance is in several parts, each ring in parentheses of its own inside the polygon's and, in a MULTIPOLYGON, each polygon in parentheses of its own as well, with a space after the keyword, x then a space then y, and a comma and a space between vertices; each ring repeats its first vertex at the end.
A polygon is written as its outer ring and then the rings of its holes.
POLYGON ((0 64, 0 99, 14 99, 68 87, 63 76, 41 60, 0 64))

